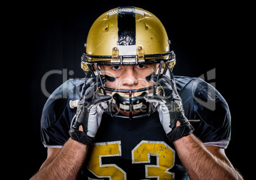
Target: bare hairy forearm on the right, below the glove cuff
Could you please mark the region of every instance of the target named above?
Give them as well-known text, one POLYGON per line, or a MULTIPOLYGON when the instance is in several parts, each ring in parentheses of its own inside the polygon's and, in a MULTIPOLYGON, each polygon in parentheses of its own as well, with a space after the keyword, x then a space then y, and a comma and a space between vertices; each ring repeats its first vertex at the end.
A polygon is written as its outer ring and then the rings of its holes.
POLYGON ((193 134, 174 141, 174 145, 190 179, 242 179, 233 167, 211 155, 193 134))

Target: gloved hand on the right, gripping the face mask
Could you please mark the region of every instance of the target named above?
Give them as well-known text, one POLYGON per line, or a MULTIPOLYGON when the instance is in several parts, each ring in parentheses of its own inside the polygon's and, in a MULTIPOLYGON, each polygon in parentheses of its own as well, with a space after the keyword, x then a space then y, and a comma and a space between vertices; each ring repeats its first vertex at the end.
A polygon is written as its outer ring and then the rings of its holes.
MULTIPOLYGON (((152 80, 157 83, 157 76, 152 76, 152 80)), ((146 101, 153 103, 154 106, 157 106, 160 122, 169 141, 173 142, 190 134, 194 128, 185 117, 181 98, 178 95, 176 83, 173 80, 173 74, 171 73, 171 78, 164 74, 160 75, 158 83, 163 91, 163 95, 147 95, 144 98, 146 101), (178 125, 179 122, 180 125, 178 125)))

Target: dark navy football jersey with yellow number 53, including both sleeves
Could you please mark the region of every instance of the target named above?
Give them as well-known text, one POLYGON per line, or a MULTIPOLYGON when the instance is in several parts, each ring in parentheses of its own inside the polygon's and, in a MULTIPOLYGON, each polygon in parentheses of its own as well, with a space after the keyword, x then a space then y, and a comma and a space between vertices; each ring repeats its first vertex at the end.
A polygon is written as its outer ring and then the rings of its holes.
MULTIPOLYGON (((185 116, 204 145, 226 148, 231 135, 227 102, 200 78, 174 76, 185 116)), ((69 138, 76 113, 70 102, 80 99, 84 79, 68 80, 52 93, 43 109, 41 139, 61 148, 69 138)), ((103 113, 94 143, 78 179, 188 179, 157 111, 138 120, 111 118, 103 113)))

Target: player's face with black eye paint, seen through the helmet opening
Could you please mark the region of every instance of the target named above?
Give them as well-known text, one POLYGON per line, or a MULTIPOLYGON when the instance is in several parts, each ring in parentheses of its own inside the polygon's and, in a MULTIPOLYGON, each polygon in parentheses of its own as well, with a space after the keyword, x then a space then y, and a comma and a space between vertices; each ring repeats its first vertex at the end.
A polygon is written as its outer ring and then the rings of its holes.
MULTIPOLYGON (((146 79, 155 73, 158 64, 139 64, 124 66, 99 66, 106 78, 105 87, 121 90, 146 88, 153 85, 153 81, 146 79)), ((111 93, 111 92, 107 92, 111 93)))

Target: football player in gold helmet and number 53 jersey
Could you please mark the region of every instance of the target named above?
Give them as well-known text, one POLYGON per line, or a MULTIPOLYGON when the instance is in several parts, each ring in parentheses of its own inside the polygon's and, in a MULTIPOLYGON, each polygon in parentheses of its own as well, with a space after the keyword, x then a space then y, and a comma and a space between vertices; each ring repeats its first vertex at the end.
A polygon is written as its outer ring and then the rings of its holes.
POLYGON ((66 81, 45 104, 48 156, 32 179, 242 179, 225 156, 227 102, 200 78, 173 76, 169 44, 146 10, 97 18, 85 79, 66 81))

